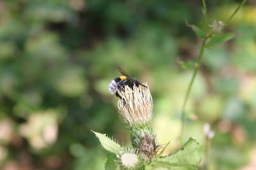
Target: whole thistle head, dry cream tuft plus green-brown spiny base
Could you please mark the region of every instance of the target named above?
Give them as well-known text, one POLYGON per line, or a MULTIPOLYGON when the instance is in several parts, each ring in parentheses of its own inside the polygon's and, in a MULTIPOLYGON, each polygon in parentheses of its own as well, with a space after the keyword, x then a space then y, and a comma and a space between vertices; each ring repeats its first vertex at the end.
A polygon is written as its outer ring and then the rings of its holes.
MULTIPOLYGON (((143 85, 148 87, 147 83, 143 85)), ((153 103, 149 88, 146 87, 125 86, 119 92, 121 99, 118 101, 118 109, 129 125, 132 146, 150 162, 156 156, 159 145, 150 126, 153 103)))

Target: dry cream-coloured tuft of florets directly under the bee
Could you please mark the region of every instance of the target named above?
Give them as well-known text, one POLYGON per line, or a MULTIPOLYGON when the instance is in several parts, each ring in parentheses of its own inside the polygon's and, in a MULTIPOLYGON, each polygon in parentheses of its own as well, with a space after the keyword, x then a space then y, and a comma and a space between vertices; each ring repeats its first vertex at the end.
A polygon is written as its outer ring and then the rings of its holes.
MULTIPOLYGON (((147 86, 147 83, 143 85, 147 86)), ((125 122, 132 126, 134 124, 147 124, 152 118, 153 103, 148 88, 134 85, 128 86, 119 92, 122 99, 118 101, 118 109, 124 116, 125 122)))

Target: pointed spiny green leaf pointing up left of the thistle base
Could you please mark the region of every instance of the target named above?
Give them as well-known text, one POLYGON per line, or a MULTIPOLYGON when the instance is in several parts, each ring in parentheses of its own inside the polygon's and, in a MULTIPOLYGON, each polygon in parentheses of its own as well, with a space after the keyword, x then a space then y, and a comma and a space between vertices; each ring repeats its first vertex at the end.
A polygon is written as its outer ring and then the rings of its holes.
POLYGON ((108 138, 108 136, 105 136, 104 134, 100 134, 98 132, 93 133, 97 136, 97 138, 99 138, 101 145, 105 150, 108 150, 108 152, 120 153, 120 151, 122 151, 122 147, 112 139, 108 138))

